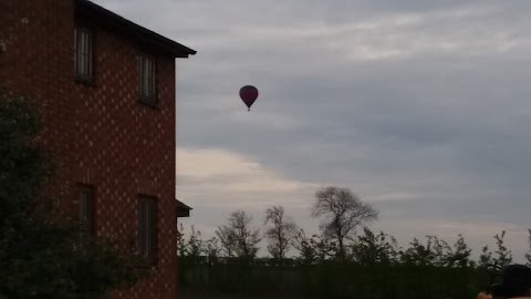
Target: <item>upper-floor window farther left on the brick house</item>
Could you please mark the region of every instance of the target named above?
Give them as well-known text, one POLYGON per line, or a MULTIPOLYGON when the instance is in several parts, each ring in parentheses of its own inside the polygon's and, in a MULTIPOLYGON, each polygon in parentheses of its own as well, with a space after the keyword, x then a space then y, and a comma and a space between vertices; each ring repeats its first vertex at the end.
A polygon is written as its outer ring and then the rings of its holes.
POLYGON ((92 81, 92 32, 84 28, 74 30, 74 69, 76 79, 92 81))

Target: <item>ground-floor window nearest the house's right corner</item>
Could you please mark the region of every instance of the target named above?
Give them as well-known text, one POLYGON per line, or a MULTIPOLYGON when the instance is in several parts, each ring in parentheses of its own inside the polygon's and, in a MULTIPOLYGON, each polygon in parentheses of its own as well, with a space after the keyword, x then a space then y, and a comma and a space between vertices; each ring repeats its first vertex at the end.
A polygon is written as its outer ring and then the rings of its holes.
POLYGON ((157 200, 140 196, 138 200, 138 250, 150 261, 157 254, 157 200))

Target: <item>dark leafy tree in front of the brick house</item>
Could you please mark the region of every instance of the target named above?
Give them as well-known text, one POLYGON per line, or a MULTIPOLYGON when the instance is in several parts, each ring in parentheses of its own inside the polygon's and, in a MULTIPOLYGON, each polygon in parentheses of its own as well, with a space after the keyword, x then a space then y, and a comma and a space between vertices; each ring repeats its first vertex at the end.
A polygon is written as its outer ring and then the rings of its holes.
POLYGON ((140 259, 50 219, 51 199, 39 194, 53 167, 39 127, 27 99, 0 91, 0 298, 105 298, 134 285, 147 274, 140 259))

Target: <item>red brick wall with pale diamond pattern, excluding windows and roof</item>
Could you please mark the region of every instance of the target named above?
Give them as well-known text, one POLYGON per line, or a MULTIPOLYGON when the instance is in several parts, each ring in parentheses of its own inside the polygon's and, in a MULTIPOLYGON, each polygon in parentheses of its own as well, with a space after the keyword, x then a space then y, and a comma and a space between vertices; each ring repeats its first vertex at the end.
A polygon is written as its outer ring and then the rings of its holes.
POLYGON ((140 104, 137 47, 95 29, 95 81, 73 76, 71 0, 0 0, 0 86, 35 101, 58 173, 46 193, 77 213, 77 184, 96 190, 96 234, 134 248, 139 194, 158 198, 155 274, 115 298, 176 298, 175 61, 157 55, 157 107, 140 104), (0 47, 1 51, 1 47, 0 47))

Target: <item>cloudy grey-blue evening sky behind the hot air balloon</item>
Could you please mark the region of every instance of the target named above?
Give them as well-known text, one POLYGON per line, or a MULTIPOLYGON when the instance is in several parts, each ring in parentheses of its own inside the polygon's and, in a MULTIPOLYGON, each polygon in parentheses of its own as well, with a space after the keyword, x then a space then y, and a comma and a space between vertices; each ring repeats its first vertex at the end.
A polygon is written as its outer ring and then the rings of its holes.
POLYGON ((177 197, 214 236, 282 205, 306 231, 348 187, 402 245, 479 254, 531 220, 530 1, 95 0, 198 53, 177 60, 177 197), (256 85, 247 111, 238 92, 256 85))

